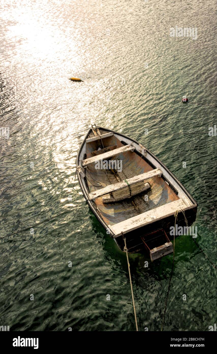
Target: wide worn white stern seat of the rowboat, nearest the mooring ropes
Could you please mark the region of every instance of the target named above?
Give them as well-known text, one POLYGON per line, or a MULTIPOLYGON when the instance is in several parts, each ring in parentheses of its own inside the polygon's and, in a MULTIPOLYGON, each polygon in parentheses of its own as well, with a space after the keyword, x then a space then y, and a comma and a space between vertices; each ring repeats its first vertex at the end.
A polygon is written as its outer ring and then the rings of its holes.
POLYGON ((136 230, 137 228, 145 226, 146 224, 149 224, 152 221, 156 221, 157 219, 175 213, 176 210, 186 209, 191 205, 192 204, 189 199, 184 196, 181 199, 172 201, 168 204, 161 205, 157 208, 146 211, 145 213, 142 213, 140 215, 136 215, 115 225, 108 225, 108 227, 116 236, 119 236, 122 232, 124 234, 136 230))

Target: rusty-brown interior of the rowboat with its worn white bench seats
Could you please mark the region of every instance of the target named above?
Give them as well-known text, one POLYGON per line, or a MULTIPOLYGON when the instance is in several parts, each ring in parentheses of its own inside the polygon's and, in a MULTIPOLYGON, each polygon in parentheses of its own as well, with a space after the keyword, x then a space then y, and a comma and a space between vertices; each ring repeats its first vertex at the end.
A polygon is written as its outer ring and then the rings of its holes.
POLYGON ((143 145, 118 133, 92 127, 79 166, 89 198, 116 235, 193 205, 143 145))

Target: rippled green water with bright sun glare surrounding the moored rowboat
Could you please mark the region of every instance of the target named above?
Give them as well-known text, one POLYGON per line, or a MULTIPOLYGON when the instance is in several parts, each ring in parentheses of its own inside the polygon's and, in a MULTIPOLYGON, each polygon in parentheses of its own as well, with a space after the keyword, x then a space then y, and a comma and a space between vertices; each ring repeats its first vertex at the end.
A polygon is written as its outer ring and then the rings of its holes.
MULTIPOLYGON (((215 1, 2 0, 0 11, 0 127, 10 127, 0 138, 0 325, 134 331, 126 255, 79 204, 76 154, 90 122, 147 146, 197 200, 197 242, 216 263, 215 1), (170 37, 176 25, 197 27, 197 39, 170 37)), ((216 323, 205 255, 176 239, 164 330, 216 323)), ((144 255, 129 259, 139 330, 159 331, 172 255, 148 268, 144 255)))

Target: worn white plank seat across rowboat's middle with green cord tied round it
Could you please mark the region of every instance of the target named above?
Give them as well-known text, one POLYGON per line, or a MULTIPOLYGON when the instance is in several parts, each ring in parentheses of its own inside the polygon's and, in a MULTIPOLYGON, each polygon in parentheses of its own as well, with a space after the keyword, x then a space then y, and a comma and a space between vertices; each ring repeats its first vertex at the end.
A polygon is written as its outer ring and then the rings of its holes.
MULTIPOLYGON (((113 151, 115 151, 115 150, 113 150, 113 151)), ((99 157, 99 155, 98 155, 98 157, 99 157)), ((162 171, 160 171, 159 169, 151 170, 146 173, 142 173, 141 175, 127 178, 124 181, 107 185, 107 187, 104 187, 104 188, 95 190, 95 192, 89 193, 88 196, 92 200, 92 199, 98 198, 101 195, 105 195, 105 194, 114 192, 115 190, 125 188, 128 185, 132 185, 132 184, 135 184, 140 181, 145 181, 145 180, 152 178, 154 176, 160 177, 161 175, 162 175, 162 171), (127 182, 125 182, 125 181, 127 181, 127 182)))

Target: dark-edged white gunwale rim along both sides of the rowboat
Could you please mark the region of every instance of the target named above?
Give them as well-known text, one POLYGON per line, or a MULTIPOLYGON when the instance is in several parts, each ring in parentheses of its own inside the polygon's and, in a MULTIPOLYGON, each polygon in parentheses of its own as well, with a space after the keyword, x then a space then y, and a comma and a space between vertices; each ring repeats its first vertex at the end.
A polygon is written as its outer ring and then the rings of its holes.
MULTIPOLYGON (((106 129, 106 128, 102 128, 102 127, 97 127, 98 129, 101 129, 103 131, 107 131, 107 132, 112 132, 114 134, 117 134, 119 136, 122 136, 126 139, 129 139, 131 141, 133 141, 134 143, 136 144, 140 144, 138 141, 136 141, 135 139, 133 138, 130 138, 129 136, 125 135, 125 134, 122 134, 122 133, 118 133, 118 132, 115 132, 114 130, 111 130, 111 129, 106 129)), ((96 209, 96 206, 94 204, 94 200, 90 200, 89 199, 89 196, 83 186, 83 181, 82 181, 82 178, 80 176, 80 173, 77 171, 77 168, 79 165, 79 158, 80 158, 80 154, 81 154, 81 150, 83 148, 83 145, 85 144, 86 142, 86 139, 88 138, 88 135, 89 133, 92 131, 92 129, 90 128, 86 134, 86 136, 84 137, 79 149, 78 149, 78 153, 77 153, 77 156, 76 156, 76 173, 77 173, 77 177, 78 177, 78 182, 79 182, 79 185, 80 185, 80 188, 81 188, 81 191, 84 195, 84 198, 86 199, 86 202, 88 203, 90 209, 92 210, 92 212, 94 213, 94 215, 96 216, 96 218, 98 219, 98 221, 104 226, 105 229, 109 229, 110 230, 110 236, 115 238, 115 234, 113 233, 113 231, 109 228, 109 226, 105 223, 105 221, 102 219, 101 215, 99 214, 99 212, 97 211, 96 209)), ((179 185, 179 187, 183 190, 183 192, 187 195, 187 197, 190 199, 190 201, 193 203, 193 205, 185 208, 185 210, 189 210, 189 209, 193 209, 195 207, 198 207, 198 203, 196 202, 196 200, 190 195, 190 193, 188 192, 188 190, 182 185, 182 183, 174 176, 174 174, 163 164, 162 161, 160 161, 157 156, 155 156, 151 151, 149 151, 146 147, 145 147, 147 153, 149 155, 151 155, 153 157, 153 159, 155 159, 165 170, 166 172, 169 173, 169 175, 174 179, 174 181, 179 185)), ((142 154, 140 154, 139 152, 136 152, 137 154, 143 156, 142 154)), ((164 219, 166 217, 168 217, 169 215, 165 215, 164 217, 162 217, 161 219, 164 219)), ((153 220, 153 222, 155 222, 153 220)), ((151 224, 152 222, 150 222, 151 224)))

